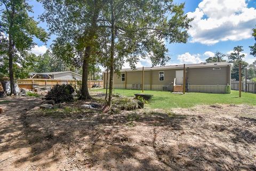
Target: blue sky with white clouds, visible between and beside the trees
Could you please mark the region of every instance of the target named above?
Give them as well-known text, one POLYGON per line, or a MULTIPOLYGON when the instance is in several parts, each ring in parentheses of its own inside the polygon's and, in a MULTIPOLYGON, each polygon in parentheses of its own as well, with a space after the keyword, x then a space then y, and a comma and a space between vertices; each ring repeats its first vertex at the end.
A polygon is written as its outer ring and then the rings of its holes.
MULTIPOLYGON (((199 63, 212 56, 214 52, 230 53, 233 47, 244 46, 245 60, 252 63, 256 60, 250 55, 249 46, 255 40, 251 36, 252 28, 256 25, 256 0, 174 0, 175 3, 185 2, 185 13, 195 18, 193 28, 189 30, 190 38, 186 44, 169 44, 167 55, 171 60, 167 64, 199 63)), ((42 5, 36 1, 29 1, 33 5, 34 16, 44 12, 42 5)), ((47 30, 46 23, 39 26, 47 30)), ((49 48, 54 35, 47 44, 35 39, 37 46, 32 52, 40 54, 49 48), (46 46, 46 47, 45 47, 46 46)), ((141 59, 137 66, 150 67, 149 59, 141 59)), ((124 68, 129 68, 127 63, 124 68)))

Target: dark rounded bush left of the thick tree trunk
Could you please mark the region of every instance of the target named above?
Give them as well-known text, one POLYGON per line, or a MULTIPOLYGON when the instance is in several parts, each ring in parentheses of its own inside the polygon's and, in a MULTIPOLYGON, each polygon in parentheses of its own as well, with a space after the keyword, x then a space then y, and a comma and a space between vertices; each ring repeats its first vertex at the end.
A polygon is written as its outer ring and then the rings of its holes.
POLYGON ((54 100, 55 103, 70 102, 73 101, 73 93, 75 89, 67 84, 55 85, 50 92, 45 95, 45 100, 54 100))

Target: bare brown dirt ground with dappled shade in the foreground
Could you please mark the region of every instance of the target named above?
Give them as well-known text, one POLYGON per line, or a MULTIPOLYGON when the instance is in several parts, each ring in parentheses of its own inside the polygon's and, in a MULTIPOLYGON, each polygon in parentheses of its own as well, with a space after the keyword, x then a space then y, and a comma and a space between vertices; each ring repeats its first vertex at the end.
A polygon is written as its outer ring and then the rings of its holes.
POLYGON ((38 109, 41 102, 0 99, 0 170, 256 170, 256 107, 110 115, 82 109, 85 102, 61 111, 38 109))

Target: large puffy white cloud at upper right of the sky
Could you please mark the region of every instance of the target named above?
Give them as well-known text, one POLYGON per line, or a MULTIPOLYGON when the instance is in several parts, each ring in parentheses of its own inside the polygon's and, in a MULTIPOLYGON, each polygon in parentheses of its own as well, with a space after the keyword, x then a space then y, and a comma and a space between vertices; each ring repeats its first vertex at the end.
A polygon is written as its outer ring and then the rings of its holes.
POLYGON ((245 0, 203 0, 188 17, 194 18, 188 31, 191 42, 212 45, 252 37, 256 9, 248 8, 245 0))

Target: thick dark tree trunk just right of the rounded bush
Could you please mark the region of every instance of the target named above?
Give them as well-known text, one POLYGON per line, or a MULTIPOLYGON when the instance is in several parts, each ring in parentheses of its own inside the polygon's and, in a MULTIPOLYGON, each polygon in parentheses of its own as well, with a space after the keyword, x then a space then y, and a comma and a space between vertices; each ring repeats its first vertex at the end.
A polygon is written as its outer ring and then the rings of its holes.
POLYGON ((80 99, 90 100, 92 97, 88 91, 88 73, 89 73, 89 58, 91 53, 91 46, 85 48, 85 54, 83 59, 83 75, 82 75, 82 92, 80 99))

